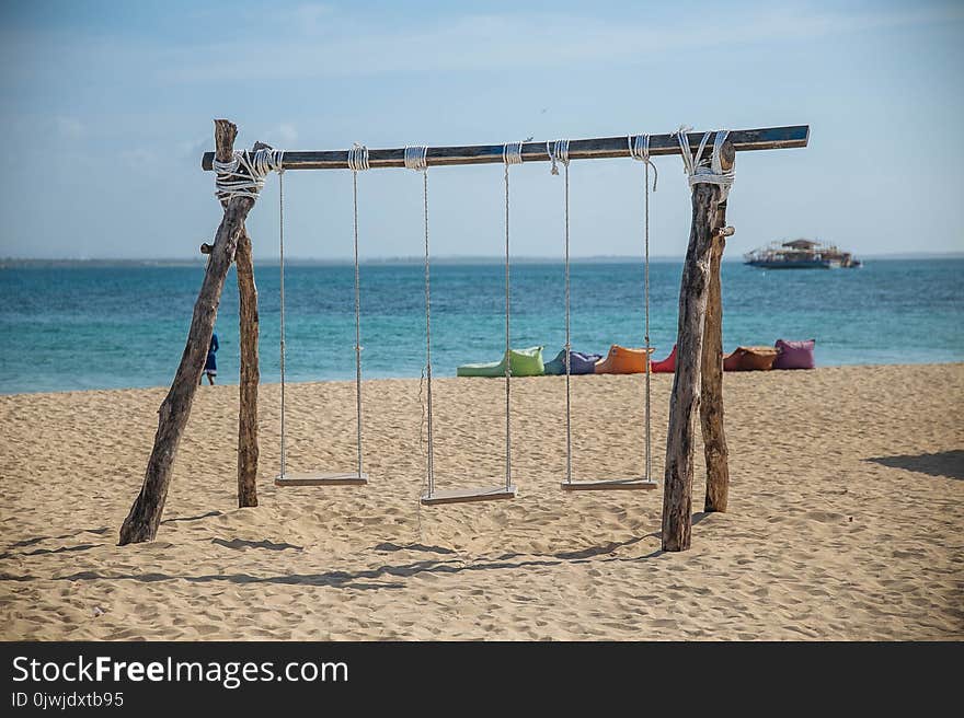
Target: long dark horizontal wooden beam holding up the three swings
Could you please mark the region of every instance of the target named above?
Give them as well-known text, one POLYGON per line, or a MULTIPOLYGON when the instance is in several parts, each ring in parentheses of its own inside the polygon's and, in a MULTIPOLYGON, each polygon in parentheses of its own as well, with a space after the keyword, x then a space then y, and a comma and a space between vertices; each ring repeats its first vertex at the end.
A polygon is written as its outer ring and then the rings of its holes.
MULTIPOLYGON (((689 132, 691 151, 700 147, 705 132, 689 132)), ((792 127, 765 127, 761 129, 736 129, 730 131, 730 141, 737 152, 748 150, 783 150, 806 147, 810 140, 810 125, 792 127)), ((456 164, 489 164, 502 162, 503 144, 468 144, 459 147, 429 147, 428 166, 449 166, 456 164)), ((710 143, 705 151, 712 149, 710 143)), ((676 135, 651 135, 650 154, 679 154, 676 135)), ((200 166, 210 171, 214 152, 205 152, 200 166)), ((629 157, 627 137, 597 137, 586 140, 570 140, 571 160, 601 160, 629 157)), ((546 142, 524 142, 524 162, 548 162, 546 142)), ((405 149, 368 150, 368 164, 372 169, 404 167, 405 149)), ((347 170, 348 150, 328 150, 321 152, 285 151, 282 166, 285 170, 347 170)))

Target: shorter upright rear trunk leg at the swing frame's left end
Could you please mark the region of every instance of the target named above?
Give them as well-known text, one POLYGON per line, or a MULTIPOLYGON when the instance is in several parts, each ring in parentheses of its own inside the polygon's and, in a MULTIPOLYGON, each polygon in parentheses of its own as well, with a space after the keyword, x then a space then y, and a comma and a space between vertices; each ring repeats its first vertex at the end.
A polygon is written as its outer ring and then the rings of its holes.
POLYGON ((254 285, 254 263, 251 238, 241 230, 238 253, 241 322, 241 385, 238 409, 238 507, 257 506, 257 287, 254 285))

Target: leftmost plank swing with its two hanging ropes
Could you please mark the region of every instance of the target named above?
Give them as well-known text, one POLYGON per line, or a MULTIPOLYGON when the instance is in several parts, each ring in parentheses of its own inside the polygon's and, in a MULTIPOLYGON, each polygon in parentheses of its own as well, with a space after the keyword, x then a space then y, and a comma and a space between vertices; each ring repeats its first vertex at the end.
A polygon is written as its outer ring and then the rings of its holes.
POLYGON ((354 208, 355 235, 355 420, 356 420, 356 470, 353 472, 289 472, 287 471, 285 435, 285 224, 284 224, 284 183, 278 173, 278 215, 280 257, 280 369, 282 369, 282 466, 275 476, 275 486, 366 486, 368 474, 362 471, 362 301, 358 269, 358 172, 368 170, 368 149, 355 147, 348 150, 348 169, 352 171, 352 196, 354 208))

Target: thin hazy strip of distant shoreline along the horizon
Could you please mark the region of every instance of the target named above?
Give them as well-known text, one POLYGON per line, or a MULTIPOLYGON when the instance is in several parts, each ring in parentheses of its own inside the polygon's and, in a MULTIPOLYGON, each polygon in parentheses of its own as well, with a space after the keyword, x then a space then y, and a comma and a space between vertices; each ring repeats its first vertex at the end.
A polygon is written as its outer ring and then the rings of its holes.
MULTIPOLYGON (((932 260, 932 259, 964 259, 964 252, 936 252, 936 253, 896 253, 896 254, 868 254, 861 255, 861 259, 869 262, 908 262, 908 260, 932 260)), ((514 264, 559 264, 561 257, 513 257, 514 264)), ((642 257, 615 255, 615 256, 595 256, 595 257, 573 257, 574 264, 633 264, 642 260, 642 257)), ((659 264, 681 264, 684 257, 654 256, 650 257, 650 262, 659 264)), ((94 259, 39 259, 39 258, 14 258, 8 257, 0 259, 0 269, 20 269, 20 268, 74 268, 74 267, 197 267, 203 266, 207 262, 204 257, 193 259, 118 259, 118 258, 94 258, 94 259)), ((363 265, 412 265, 422 264, 422 257, 367 257, 363 258, 363 265)), ((500 256, 439 256, 433 257, 434 265, 487 265, 502 264, 503 257, 500 256)), ((742 263, 743 255, 733 254, 725 256, 723 262, 742 263)), ((277 259, 267 259, 257 262, 261 266, 277 266, 277 259)), ((295 267, 328 267, 344 266, 352 264, 349 258, 311 258, 295 257, 286 258, 287 266, 295 267)))

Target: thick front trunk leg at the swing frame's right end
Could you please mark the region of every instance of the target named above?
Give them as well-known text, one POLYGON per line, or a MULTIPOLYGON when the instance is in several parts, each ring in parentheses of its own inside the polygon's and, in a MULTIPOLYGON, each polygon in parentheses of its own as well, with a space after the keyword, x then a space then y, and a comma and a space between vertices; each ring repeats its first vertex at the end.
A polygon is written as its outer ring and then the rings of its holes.
POLYGON ((686 551, 692 529, 693 419, 700 403, 703 327, 710 285, 712 222, 720 187, 692 190, 692 224, 679 288, 676 373, 669 402, 663 489, 663 551, 686 551))

